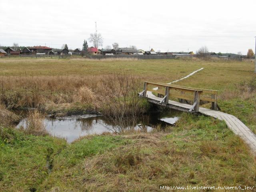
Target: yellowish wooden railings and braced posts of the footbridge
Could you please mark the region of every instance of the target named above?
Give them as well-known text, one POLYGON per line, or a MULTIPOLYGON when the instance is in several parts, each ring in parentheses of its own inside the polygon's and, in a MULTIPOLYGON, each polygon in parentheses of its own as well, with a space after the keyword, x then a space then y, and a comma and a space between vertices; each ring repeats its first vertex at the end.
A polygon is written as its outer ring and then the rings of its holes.
POLYGON ((191 101, 192 107, 190 112, 199 111, 200 100, 212 102, 212 109, 220 109, 217 104, 217 90, 206 90, 178 85, 170 85, 164 83, 144 82, 144 90, 140 96, 147 97, 147 91, 157 94, 157 97, 162 98, 161 104, 168 104, 169 98, 178 98, 182 103, 191 101))

